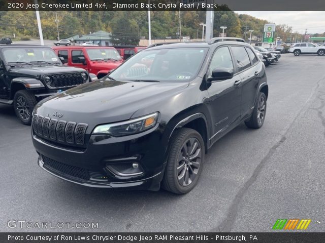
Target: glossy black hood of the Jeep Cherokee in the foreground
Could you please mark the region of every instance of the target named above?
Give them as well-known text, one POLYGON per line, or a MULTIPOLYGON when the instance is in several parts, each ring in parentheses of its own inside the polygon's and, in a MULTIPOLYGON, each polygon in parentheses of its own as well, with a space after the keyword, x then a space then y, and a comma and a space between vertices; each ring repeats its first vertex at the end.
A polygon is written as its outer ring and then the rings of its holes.
POLYGON ((187 86, 188 83, 98 80, 44 99, 34 112, 50 118, 55 118, 53 114, 58 112, 63 114, 62 120, 94 127, 127 120, 137 110, 172 98, 187 86))

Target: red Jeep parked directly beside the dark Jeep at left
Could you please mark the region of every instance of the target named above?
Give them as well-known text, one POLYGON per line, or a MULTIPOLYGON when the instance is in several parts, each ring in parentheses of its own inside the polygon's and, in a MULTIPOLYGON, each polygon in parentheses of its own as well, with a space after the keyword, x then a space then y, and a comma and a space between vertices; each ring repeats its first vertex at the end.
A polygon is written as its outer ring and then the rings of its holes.
POLYGON ((104 77, 123 62, 113 47, 68 46, 52 47, 58 57, 68 66, 86 69, 98 78, 104 77))

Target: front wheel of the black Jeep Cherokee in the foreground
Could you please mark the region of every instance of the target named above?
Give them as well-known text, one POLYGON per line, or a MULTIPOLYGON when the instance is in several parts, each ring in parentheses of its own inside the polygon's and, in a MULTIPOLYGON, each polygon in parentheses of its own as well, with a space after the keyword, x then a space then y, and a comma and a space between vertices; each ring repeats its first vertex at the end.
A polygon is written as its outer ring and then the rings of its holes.
POLYGON ((205 144, 193 129, 181 128, 174 132, 169 148, 163 188, 184 194, 192 190, 200 177, 205 144))

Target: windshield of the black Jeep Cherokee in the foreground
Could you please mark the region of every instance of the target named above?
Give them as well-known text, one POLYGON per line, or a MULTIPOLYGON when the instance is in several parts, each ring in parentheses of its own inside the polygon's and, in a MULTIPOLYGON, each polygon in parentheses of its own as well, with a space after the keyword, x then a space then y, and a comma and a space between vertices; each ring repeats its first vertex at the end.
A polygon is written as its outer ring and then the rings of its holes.
POLYGON ((188 82, 196 77, 207 48, 143 50, 109 76, 115 80, 188 82))

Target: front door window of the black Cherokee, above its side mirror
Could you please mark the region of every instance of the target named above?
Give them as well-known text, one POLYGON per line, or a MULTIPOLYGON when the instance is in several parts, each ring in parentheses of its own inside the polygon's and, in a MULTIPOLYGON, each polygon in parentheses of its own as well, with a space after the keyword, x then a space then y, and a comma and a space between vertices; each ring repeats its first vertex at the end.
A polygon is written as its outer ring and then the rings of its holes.
POLYGON ((234 71, 232 56, 230 55, 228 47, 221 47, 215 51, 211 59, 209 74, 211 74, 213 69, 218 67, 225 67, 234 71))

